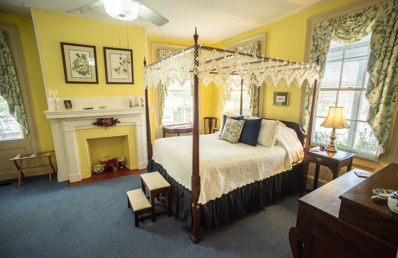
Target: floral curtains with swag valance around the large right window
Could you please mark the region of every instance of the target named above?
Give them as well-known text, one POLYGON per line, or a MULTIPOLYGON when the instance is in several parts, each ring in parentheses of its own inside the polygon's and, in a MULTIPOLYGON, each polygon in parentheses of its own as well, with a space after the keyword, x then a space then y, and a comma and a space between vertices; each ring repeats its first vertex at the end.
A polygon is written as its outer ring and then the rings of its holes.
MULTIPOLYGON (((340 44, 353 44, 372 33, 371 57, 368 63, 371 79, 368 82, 366 94, 372 108, 369 111, 368 123, 379 140, 382 152, 385 149, 397 96, 397 3, 398 0, 388 0, 354 13, 314 24, 309 56, 309 63, 316 63, 319 57, 321 79, 331 40, 340 44)), ((312 93, 313 85, 307 83, 303 129, 308 126, 312 93)))

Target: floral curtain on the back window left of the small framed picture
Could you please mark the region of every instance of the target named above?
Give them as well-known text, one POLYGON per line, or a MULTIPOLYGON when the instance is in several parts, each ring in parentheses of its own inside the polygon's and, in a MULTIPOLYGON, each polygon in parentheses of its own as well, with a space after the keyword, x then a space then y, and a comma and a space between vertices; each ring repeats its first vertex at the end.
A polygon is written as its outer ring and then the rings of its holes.
MULTIPOLYGON (((250 44, 246 44, 243 46, 236 47, 231 49, 233 51, 247 53, 250 55, 261 55, 261 41, 253 42, 250 44)), ((223 103, 228 100, 228 96, 230 94, 230 85, 224 85, 223 87, 223 103)), ((248 94, 250 99, 250 113, 254 117, 258 117, 258 101, 259 101, 259 86, 251 83, 248 85, 248 94)))

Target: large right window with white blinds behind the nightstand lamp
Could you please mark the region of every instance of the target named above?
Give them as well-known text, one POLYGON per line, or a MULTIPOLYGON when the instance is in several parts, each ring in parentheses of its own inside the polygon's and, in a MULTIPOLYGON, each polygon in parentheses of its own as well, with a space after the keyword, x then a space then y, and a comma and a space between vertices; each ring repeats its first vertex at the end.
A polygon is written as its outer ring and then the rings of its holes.
POLYGON ((336 129, 335 144, 368 158, 376 158, 378 141, 366 122, 369 102, 365 91, 369 80, 366 67, 370 53, 370 37, 351 44, 330 43, 324 77, 315 106, 312 142, 329 142, 331 129, 320 127, 330 106, 344 107, 350 129, 336 129))

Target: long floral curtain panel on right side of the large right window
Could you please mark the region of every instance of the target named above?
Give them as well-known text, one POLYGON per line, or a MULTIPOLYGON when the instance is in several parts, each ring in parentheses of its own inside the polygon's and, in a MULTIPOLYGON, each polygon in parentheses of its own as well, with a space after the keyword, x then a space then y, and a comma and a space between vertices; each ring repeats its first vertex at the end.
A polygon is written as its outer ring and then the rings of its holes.
POLYGON ((370 42, 370 74, 366 98, 371 108, 368 123, 385 150, 397 101, 398 86, 398 0, 378 6, 370 42))

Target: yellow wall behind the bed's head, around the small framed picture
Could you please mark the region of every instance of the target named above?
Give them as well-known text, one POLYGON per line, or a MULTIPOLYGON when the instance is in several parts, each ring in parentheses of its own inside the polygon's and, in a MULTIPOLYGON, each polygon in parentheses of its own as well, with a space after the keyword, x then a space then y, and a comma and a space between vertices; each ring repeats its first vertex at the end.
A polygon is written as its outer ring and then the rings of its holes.
MULTIPOLYGON (((332 0, 292 16, 255 28, 235 37, 226 39, 222 42, 214 44, 214 47, 223 48, 227 44, 250 38, 265 32, 266 56, 303 62, 307 19, 354 1, 355 0, 332 0)), ((222 91, 221 87, 218 90, 222 91)), ((218 95, 221 95, 222 97, 222 93, 218 95)), ((294 85, 291 85, 290 87, 265 87, 263 95, 264 106, 262 117, 298 123, 300 96, 301 89, 294 85), (273 96, 274 92, 276 91, 290 92, 290 101, 288 107, 278 107, 273 105, 273 96)), ((219 100, 215 99, 214 101, 219 100)))

